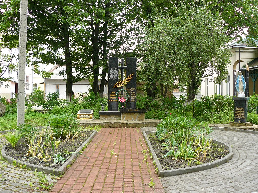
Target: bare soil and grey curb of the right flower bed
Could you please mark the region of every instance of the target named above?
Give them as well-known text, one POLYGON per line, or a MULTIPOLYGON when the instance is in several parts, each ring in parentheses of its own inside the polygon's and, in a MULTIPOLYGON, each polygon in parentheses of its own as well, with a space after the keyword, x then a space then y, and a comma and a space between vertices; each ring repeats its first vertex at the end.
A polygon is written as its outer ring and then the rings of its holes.
POLYGON ((161 149, 161 141, 156 137, 154 139, 153 136, 155 136, 155 132, 143 131, 143 135, 147 141, 150 152, 152 153, 152 157, 156 165, 156 172, 158 173, 159 177, 207 170, 228 162, 233 156, 232 149, 227 144, 213 140, 211 147, 217 148, 217 150, 215 152, 211 151, 209 154, 207 154, 208 159, 203 162, 185 162, 181 159, 175 160, 172 157, 164 158, 163 156, 166 152, 161 149))

